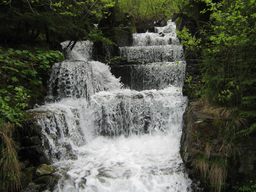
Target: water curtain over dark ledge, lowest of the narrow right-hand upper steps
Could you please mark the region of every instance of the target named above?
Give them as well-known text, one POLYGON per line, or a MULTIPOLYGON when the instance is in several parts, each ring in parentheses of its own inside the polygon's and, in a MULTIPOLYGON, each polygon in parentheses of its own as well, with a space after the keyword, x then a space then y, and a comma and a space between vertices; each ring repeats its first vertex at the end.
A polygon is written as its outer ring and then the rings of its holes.
POLYGON ((124 65, 125 82, 130 89, 141 91, 164 89, 170 85, 182 89, 185 78, 185 61, 124 65), (180 74, 180 75, 177 75, 180 74))

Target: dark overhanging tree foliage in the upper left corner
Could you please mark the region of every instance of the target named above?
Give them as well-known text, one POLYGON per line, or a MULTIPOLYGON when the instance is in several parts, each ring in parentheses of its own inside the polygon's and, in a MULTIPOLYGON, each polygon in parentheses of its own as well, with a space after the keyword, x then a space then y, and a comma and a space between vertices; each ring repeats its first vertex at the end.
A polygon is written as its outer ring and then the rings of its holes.
POLYGON ((1 0, 0 42, 43 40, 56 48, 61 41, 87 37, 93 23, 109 16, 114 4, 112 0, 1 0))

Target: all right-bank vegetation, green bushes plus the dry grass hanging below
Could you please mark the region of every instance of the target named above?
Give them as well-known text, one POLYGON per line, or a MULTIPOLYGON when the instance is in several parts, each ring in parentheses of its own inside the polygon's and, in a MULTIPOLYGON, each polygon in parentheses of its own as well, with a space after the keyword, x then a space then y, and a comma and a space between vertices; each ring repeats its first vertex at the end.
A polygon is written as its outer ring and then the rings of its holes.
MULTIPOLYGON (((217 191, 255 191, 251 185, 225 185, 229 162, 239 151, 236 142, 256 130, 256 2, 255 0, 194 0, 188 3, 197 14, 187 8, 187 17, 194 25, 177 32, 181 43, 192 51, 202 78, 188 77, 186 82, 192 98, 197 98, 197 110, 219 117, 216 126, 221 161, 209 154, 204 143, 204 154, 192 161, 204 178, 217 191), (218 170, 218 171, 216 171, 218 170)), ((185 18, 185 17, 183 17, 185 18)), ((179 20, 179 19, 178 19, 179 20)), ((177 20, 177 21, 178 21, 177 20)), ((198 138, 197 138, 198 139, 198 138)), ((200 142, 204 142, 201 139, 200 142)), ((253 179, 253 178, 252 178, 253 179)))

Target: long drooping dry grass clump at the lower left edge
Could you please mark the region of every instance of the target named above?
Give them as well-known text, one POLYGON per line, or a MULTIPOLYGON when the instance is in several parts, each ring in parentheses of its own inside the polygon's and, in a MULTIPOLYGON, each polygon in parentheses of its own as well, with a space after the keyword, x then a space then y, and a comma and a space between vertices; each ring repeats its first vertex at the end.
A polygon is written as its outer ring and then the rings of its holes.
POLYGON ((0 191, 20 191, 20 167, 12 141, 13 124, 0 127, 0 191))

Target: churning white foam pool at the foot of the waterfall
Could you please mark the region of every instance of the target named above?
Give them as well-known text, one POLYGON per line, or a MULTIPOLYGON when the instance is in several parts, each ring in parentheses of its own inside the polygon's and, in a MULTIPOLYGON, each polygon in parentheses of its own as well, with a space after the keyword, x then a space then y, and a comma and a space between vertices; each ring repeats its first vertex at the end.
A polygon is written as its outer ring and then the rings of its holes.
POLYGON ((168 133, 95 138, 77 149, 78 160, 56 163, 67 178, 56 191, 189 191, 178 149, 168 133))

